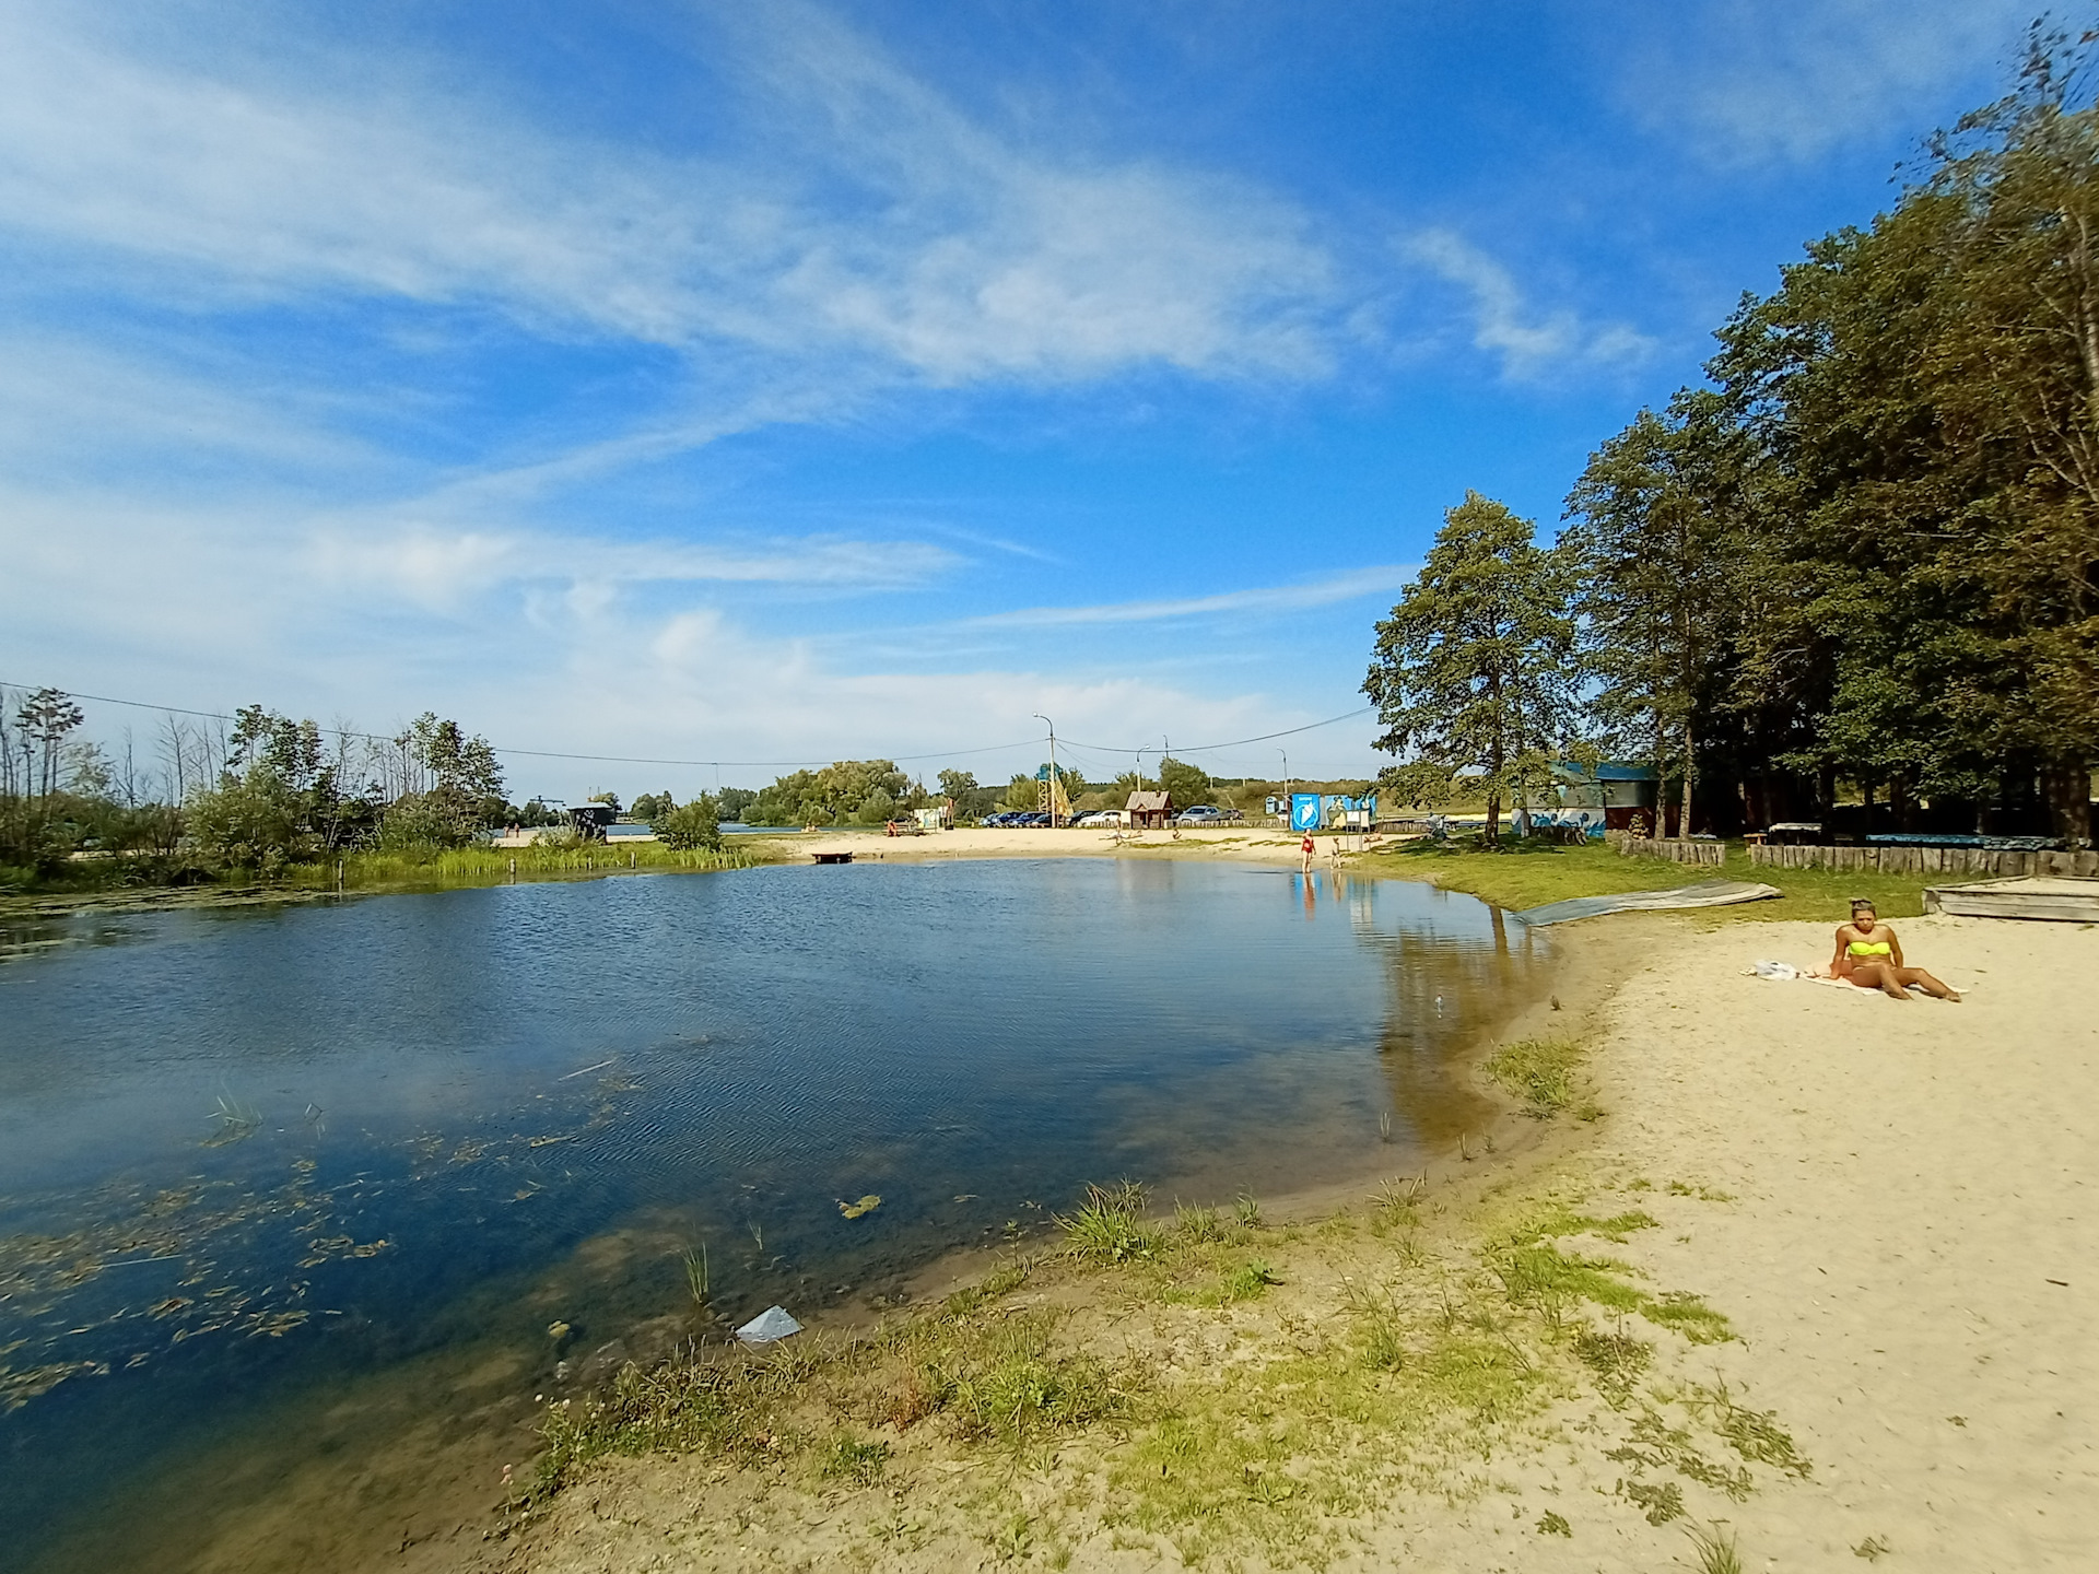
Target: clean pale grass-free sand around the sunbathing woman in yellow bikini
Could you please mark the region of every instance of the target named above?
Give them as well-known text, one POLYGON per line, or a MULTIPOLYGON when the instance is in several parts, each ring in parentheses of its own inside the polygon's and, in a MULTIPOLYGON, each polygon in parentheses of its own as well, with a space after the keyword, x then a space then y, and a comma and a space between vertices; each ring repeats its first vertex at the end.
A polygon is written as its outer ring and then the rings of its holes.
POLYGON ((1671 944, 1606 1007, 1614 1119, 1585 1163, 1736 1196, 1627 1251, 1727 1310, 1742 1341, 1717 1364, 1818 1461, 1738 1509, 1744 1549, 1824 1568, 1879 1538, 1939 1570, 2089 1568, 2099 932, 1937 917, 1902 934, 1975 993, 1902 1005, 1742 976, 1826 961, 1826 926, 1671 944))

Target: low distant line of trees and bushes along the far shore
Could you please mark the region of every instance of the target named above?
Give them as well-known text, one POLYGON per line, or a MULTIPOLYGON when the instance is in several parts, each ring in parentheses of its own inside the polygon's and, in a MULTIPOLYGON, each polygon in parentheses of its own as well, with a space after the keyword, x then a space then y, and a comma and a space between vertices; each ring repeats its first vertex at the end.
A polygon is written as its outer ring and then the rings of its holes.
MULTIPOLYGON (((166 711, 147 737, 124 728, 113 747, 82 737, 84 722, 59 688, 0 686, 0 890, 275 879, 346 852, 414 863, 510 825, 575 835, 556 806, 512 804, 489 741, 434 711, 395 735, 323 728, 262 705, 231 718, 166 711)), ((1094 785, 1064 766, 1058 774, 1075 810, 1121 804, 1140 785, 1133 772, 1094 785)), ((1144 777, 1161 781, 1182 806, 1213 793, 1207 772, 1173 758, 1144 777)), ((890 760, 840 760, 684 804, 644 791, 628 814, 672 848, 718 848, 722 821, 882 825, 942 797, 976 821, 1001 806, 1035 808, 1041 783, 1016 774, 1005 787, 978 785, 966 770, 942 770, 928 791, 890 760)), ((586 802, 621 812, 617 793, 586 802)))

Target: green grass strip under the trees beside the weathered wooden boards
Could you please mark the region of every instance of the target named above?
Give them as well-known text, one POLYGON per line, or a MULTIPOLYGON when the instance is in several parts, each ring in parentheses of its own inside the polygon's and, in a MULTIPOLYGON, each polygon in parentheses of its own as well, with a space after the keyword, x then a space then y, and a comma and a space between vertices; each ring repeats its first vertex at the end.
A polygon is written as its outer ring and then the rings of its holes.
POLYGON ((1925 886, 1950 886, 1963 879, 1963 875, 1891 875, 1870 869, 1774 869, 1751 865, 1740 844, 1727 844, 1727 863, 1719 869, 1667 858, 1627 858, 1616 848, 1595 842, 1570 848, 1515 839, 1505 839, 1499 852, 1471 844, 1408 842, 1369 852, 1358 867, 1366 873, 1434 881, 1444 890, 1467 892, 1515 911, 1568 896, 1671 890, 1704 879, 1755 879, 1780 890, 1776 900, 1685 913, 1711 923, 1826 919, 1835 926, 1843 923, 1845 905, 1853 896, 1872 898, 1885 919, 1916 917, 1925 911, 1925 886))

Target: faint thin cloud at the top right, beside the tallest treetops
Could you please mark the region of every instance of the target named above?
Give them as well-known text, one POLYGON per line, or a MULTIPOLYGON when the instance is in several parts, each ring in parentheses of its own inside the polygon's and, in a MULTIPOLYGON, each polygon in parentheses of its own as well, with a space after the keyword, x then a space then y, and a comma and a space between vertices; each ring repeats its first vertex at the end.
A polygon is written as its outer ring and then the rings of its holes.
POLYGON ((1658 136, 1723 168, 1805 164, 1860 139, 1914 145, 1948 113, 1950 90, 1996 97, 2042 10, 2034 0, 1721 0, 1656 8, 1602 48, 1618 57, 1620 99, 1658 136))

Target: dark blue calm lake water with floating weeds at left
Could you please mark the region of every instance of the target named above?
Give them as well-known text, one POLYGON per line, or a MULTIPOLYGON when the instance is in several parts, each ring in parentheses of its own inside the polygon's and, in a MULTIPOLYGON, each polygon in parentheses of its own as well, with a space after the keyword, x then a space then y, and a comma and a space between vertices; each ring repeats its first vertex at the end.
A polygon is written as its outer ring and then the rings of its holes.
POLYGON ((886 1295, 1087 1179, 1400 1171, 1482 1119, 1453 1060, 1539 961, 1467 896, 1152 860, 6 938, 0 1564, 103 1570, 181 1568, 302 1450, 369 1446, 372 1394, 464 1415, 701 1331, 684 1247, 743 1320, 886 1295), (365 1433, 300 1423, 359 1404, 365 1433))

